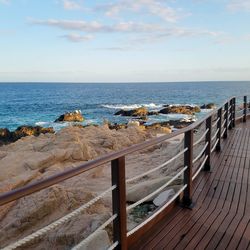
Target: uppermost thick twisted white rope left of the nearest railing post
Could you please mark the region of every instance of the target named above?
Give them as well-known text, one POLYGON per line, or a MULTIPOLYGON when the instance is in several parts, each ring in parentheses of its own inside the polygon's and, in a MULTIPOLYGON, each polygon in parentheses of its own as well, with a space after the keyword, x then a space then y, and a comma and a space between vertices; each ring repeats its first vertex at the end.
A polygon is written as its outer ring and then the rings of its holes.
POLYGON ((73 217, 81 214, 85 209, 87 209, 88 207, 92 206, 94 203, 96 203, 98 200, 100 200, 101 198, 103 198, 107 193, 111 192, 112 190, 114 190, 116 188, 116 185, 113 185, 112 187, 110 187, 109 189, 107 189, 105 192, 101 193, 100 195, 96 196, 94 199, 90 200, 89 202, 87 202, 86 204, 82 205, 81 207, 77 208, 76 210, 74 210, 73 212, 67 214, 66 216, 52 222, 51 224, 49 224, 48 226, 39 229, 38 231, 26 236, 25 238, 18 240, 17 242, 3 248, 2 250, 12 250, 12 249, 16 249, 18 247, 21 247, 23 245, 25 245, 26 243, 41 237, 42 235, 46 234, 47 232, 55 229, 56 227, 64 224, 65 222, 69 221, 70 219, 72 219, 73 217))

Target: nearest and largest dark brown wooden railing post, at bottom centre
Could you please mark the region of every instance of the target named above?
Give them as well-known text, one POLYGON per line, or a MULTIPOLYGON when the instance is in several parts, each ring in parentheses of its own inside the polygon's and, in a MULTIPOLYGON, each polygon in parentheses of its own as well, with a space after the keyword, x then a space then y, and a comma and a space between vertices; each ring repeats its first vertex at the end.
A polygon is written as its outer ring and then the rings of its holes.
POLYGON ((117 214, 113 222, 113 241, 119 242, 116 249, 127 249, 127 212, 125 184, 125 156, 111 161, 113 214, 117 214))

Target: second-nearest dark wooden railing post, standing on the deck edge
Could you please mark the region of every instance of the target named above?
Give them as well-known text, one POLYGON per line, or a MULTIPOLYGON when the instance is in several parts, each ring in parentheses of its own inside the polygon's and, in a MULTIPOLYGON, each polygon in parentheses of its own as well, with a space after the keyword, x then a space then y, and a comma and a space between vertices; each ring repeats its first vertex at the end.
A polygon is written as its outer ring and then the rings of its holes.
POLYGON ((182 202, 184 207, 192 208, 193 129, 185 133, 184 148, 188 149, 184 154, 184 166, 187 167, 184 172, 184 185, 187 187, 184 190, 182 202))

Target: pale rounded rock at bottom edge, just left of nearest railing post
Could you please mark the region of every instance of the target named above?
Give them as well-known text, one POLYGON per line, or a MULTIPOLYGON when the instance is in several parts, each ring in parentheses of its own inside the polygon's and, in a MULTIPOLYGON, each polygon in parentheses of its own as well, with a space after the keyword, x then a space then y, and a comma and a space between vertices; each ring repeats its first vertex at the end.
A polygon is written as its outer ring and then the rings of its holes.
POLYGON ((111 245, 108 233, 105 230, 98 231, 93 238, 88 241, 83 241, 79 250, 105 250, 111 245))

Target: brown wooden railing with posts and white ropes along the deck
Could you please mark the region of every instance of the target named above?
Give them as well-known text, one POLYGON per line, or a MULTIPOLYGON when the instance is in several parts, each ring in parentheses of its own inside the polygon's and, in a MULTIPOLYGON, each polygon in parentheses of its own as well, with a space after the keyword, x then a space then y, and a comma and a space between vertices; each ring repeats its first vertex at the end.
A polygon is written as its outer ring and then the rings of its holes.
MULTIPOLYGON (((217 109, 213 110, 212 112, 208 113, 204 118, 198 120, 197 122, 191 124, 190 126, 180 129, 176 132, 173 132, 169 135, 161 136, 158 138, 151 139, 149 141, 133 145, 131 147, 125 148, 123 150, 107 154, 102 156, 98 159, 89 161, 83 165, 75 167, 70 170, 66 170, 62 173, 53 175, 47 179, 37 181, 35 183, 26 185, 22 188, 12 190, 7 193, 3 193, 0 195, 0 205, 5 205, 9 202, 15 201, 20 199, 24 196, 28 196, 32 193, 37 191, 43 190, 48 188, 52 185, 60 183, 64 180, 72 178, 76 175, 79 175, 83 172, 86 172, 90 169, 94 169, 100 167, 104 163, 111 162, 111 179, 112 179, 112 187, 109 190, 106 190, 103 195, 105 195, 108 191, 112 192, 112 206, 113 206, 113 217, 110 218, 107 223, 113 222, 113 245, 110 249, 127 249, 138 237, 143 235, 146 230, 150 230, 161 218, 162 216, 166 215, 167 211, 169 211, 175 204, 175 201, 178 197, 180 197, 181 193, 182 196, 182 205, 185 207, 192 207, 193 200, 192 200, 192 186, 195 178, 198 176, 200 171, 210 171, 211 170, 211 154, 214 151, 221 150, 221 140, 222 138, 227 138, 228 136, 228 129, 232 129, 235 127, 236 123, 241 121, 245 122, 248 116, 248 104, 247 104, 247 97, 244 96, 243 103, 239 106, 243 107, 243 114, 236 117, 236 100, 238 97, 232 97, 228 99, 223 105, 218 107, 217 109), (194 131, 198 127, 200 127, 203 123, 205 123, 205 132, 201 135, 201 137, 194 142, 194 131), (216 129, 214 135, 212 135, 212 130, 216 129), (151 169, 146 173, 142 173, 139 176, 133 177, 131 179, 126 180, 126 164, 125 164, 125 157, 131 153, 135 153, 140 150, 144 150, 148 147, 154 146, 156 144, 162 143, 166 140, 174 138, 178 135, 184 134, 184 149, 179 152, 175 157, 171 158, 164 164, 156 167, 155 169, 151 169), (198 145, 202 140, 205 141, 205 147, 202 148, 201 152, 194 158, 193 151, 194 147, 198 145), (141 199, 140 201, 136 202, 136 204, 132 204, 127 206, 126 204, 126 183, 130 181, 134 181, 135 179, 139 179, 149 173, 152 173, 162 167, 171 164, 174 159, 181 157, 184 155, 184 162, 182 170, 177 173, 177 175, 173 176, 173 178, 168 181, 165 185, 161 188, 153 192, 148 196, 153 196, 156 193, 159 193, 161 190, 166 188, 173 180, 181 175, 184 176, 183 178, 183 186, 176 193, 172 199, 170 199, 167 203, 163 206, 156 209, 156 211, 149 216, 145 221, 139 224, 130 232, 127 232, 127 212, 134 208, 136 205, 142 204, 145 198, 141 199), (200 159, 203 159, 194 172, 193 165, 200 159), (193 173, 194 172, 194 173, 193 173)), ((96 197, 94 201, 90 201, 85 204, 81 209, 84 209, 95 201, 100 199, 102 195, 96 197)), ((80 211, 80 210, 79 210, 80 211)), ((67 215, 65 220, 59 220, 60 223, 71 218, 71 216, 76 215, 77 212, 67 215)), ((53 226, 60 225, 58 222, 53 226)), ((106 226, 107 223, 104 223, 103 227, 106 226)), ((52 223, 53 224, 53 223, 52 223)), ((52 230, 54 227, 46 227, 46 230, 52 230)), ((46 230, 40 230, 38 233, 34 233, 31 236, 26 237, 23 240, 20 240, 10 246, 8 249, 15 249, 18 246, 22 246, 26 244, 28 240, 32 240, 35 237, 41 237, 46 230), (25 241, 26 240, 26 241, 25 241), (11 248, 12 247, 12 248, 11 248)), ((77 249, 77 248, 76 248, 77 249)))

